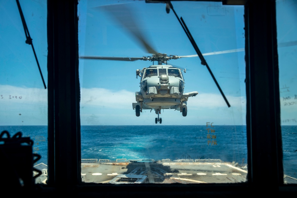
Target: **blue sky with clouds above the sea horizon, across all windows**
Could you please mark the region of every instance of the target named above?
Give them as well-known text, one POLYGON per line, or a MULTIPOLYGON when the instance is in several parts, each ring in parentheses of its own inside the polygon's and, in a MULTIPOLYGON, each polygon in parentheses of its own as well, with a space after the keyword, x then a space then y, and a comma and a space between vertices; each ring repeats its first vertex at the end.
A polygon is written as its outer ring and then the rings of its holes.
MULTIPOLYGON (((286 12, 287 15, 296 13, 296 4, 293 1, 289 1, 290 6, 286 4, 288 1, 278 2, 280 8, 290 7, 290 10, 279 9, 279 12, 286 12)), ((131 9, 138 28, 157 52, 178 56, 196 54, 173 11, 166 13, 165 4, 80 0, 80 56, 151 55, 127 29, 104 11, 106 5, 119 3, 125 3, 131 9)), ((46 1, 21 0, 20 5, 47 85, 46 1)), ((176 1, 172 5, 177 15, 184 19, 201 53, 244 48, 243 6, 176 1)), ((0 0, 0 16, 0 45, 4 46, 0 48, 0 125, 47 125, 47 89, 43 86, 32 47, 25 43, 26 37, 16 2, 0 0)), ((296 24, 296 20, 287 18, 286 23, 281 23, 284 28, 280 28, 282 31, 278 38, 282 42, 296 41, 296 28, 292 25, 296 24), (289 31, 284 31, 285 29, 289 31)), ((279 17, 278 20, 282 21, 284 17, 279 17)), ((284 76, 280 79, 280 88, 283 91, 282 120, 283 124, 295 125, 296 45, 282 47, 279 53, 282 54, 279 61, 285 65, 280 69, 280 74, 284 76), (285 72, 287 66, 293 72, 285 72)), ((186 117, 179 111, 162 110, 162 125, 206 125, 207 122, 215 125, 245 125, 244 55, 244 51, 240 51, 205 56, 231 107, 227 106, 206 66, 201 65, 198 57, 170 60, 168 64, 187 69, 184 74, 185 92, 198 91, 198 95, 189 98, 186 117)), ((81 124, 155 125, 157 115, 154 111, 143 110, 136 117, 135 110, 132 109, 135 92, 140 91, 140 78, 136 79, 135 71, 152 64, 140 60, 129 62, 80 59, 81 124)))

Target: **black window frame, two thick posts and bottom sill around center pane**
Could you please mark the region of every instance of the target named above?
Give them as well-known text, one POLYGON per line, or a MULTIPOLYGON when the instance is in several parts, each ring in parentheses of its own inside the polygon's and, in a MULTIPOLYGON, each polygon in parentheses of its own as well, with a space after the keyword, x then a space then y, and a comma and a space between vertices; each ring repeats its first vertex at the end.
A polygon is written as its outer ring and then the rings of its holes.
POLYGON ((297 191, 296 185, 283 184, 275 0, 212 1, 245 8, 247 182, 116 186, 83 183, 80 176, 78 0, 48 0, 48 184, 43 192, 55 193, 63 189, 78 196, 125 193, 209 197, 253 195, 257 189, 282 194, 297 191), (263 173, 266 173, 265 179, 263 173))

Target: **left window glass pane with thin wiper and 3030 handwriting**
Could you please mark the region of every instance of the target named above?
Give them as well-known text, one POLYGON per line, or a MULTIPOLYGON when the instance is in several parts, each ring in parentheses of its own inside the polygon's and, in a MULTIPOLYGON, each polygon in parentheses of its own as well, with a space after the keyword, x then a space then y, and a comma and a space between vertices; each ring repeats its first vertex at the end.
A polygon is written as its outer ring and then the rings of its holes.
MULTIPOLYGON (((16 1, 3 0, 0 3, 0 131, 7 131, 10 138, 21 132, 20 138, 30 137, 34 141, 32 152, 39 154, 41 159, 36 160, 35 168, 42 170, 47 164, 47 1, 20 1, 20 7, 28 27, 28 36, 31 37, 37 56, 42 77, 35 59, 32 46, 26 43, 26 34, 20 17, 16 1)), ((28 39, 29 41, 29 39, 28 39)), ((7 140, 6 133, 3 138, 7 140)), ((4 140, 4 139, 3 139, 4 140)), ((23 140, 23 139, 22 139, 23 140)), ((1 149, 5 148, 5 141, 0 141, 1 149)), ((23 146, 30 146, 24 143, 23 146)), ((5 149, 4 149, 5 150, 5 149)), ((7 151, 7 150, 5 150, 7 151)), ((27 151, 27 150, 26 150, 27 151)), ((26 172, 23 167, 32 163, 25 156, 30 153, 20 150, 9 151, 8 163, 11 170, 26 172), (21 157, 16 157, 17 153, 21 157), (11 159, 10 159, 11 158, 11 159), (24 158, 24 159, 22 159, 24 158), (17 161, 16 161, 17 160, 17 161), (29 160, 29 161, 28 161, 29 160), (17 163, 15 163, 17 162, 17 163), (13 167, 13 163, 17 167, 13 167)), ((2 153, 2 152, 1 152, 2 153)), ((32 153, 31 153, 32 155, 32 153)), ((2 158, 1 160, 6 161, 2 158)), ((34 171, 34 175, 37 172, 34 171)), ((45 182, 44 174, 35 179, 36 183, 45 182)), ((10 175, 12 177, 12 175, 10 175)), ((22 178, 26 183, 26 178, 22 178)))

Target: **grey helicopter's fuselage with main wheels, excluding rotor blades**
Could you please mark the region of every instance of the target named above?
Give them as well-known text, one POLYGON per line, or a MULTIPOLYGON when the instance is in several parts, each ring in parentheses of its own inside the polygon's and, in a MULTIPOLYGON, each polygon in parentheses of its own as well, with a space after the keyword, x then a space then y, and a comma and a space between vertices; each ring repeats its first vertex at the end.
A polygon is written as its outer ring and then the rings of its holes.
POLYGON ((198 92, 184 94, 182 71, 185 72, 170 65, 152 65, 141 71, 136 70, 136 75, 141 77, 140 91, 135 92, 137 103, 133 103, 136 116, 139 116, 143 109, 154 109, 156 114, 159 114, 161 109, 176 109, 186 116, 186 101, 198 92))

